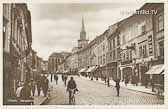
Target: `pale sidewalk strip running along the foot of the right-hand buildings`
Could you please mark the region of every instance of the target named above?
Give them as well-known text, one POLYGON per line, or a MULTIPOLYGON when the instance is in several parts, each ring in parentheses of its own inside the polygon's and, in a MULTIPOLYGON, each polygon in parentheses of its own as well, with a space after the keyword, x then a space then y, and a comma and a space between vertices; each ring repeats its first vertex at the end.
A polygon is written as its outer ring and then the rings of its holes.
MULTIPOLYGON (((83 76, 80 76, 80 77, 83 78, 83 79, 87 79, 87 80, 90 80, 90 81, 95 81, 95 82, 99 82, 99 83, 107 85, 107 83, 100 80, 100 78, 98 80, 96 80, 95 78, 93 80, 91 80, 88 77, 87 78, 83 77, 83 76)), ((110 85, 115 86, 115 82, 113 80, 110 80, 110 85)), ((145 88, 145 86, 135 86, 133 84, 127 84, 127 86, 125 86, 124 82, 120 82, 120 87, 129 89, 129 90, 134 90, 134 91, 138 91, 138 92, 143 92, 143 93, 156 95, 155 92, 152 92, 152 88, 145 88)))

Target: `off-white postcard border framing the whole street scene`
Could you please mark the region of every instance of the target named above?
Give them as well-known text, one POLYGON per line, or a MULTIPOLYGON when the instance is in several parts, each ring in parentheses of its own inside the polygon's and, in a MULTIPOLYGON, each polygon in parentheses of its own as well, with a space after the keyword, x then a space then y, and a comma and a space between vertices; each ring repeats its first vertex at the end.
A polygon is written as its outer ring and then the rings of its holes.
MULTIPOLYGON (((0 0, 0 31, 2 36, 2 3, 128 3, 128 2, 137 2, 137 1, 146 1, 146 2, 152 2, 152 3, 157 3, 157 2, 164 2, 163 0, 0 0)), ((167 1, 167 0, 166 0, 167 1)), ((168 53, 168 39, 166 36, 168 36, 167 30, 167 2, 165 3, 165 9, 164 9, 164 23, 165 23, 165 28, 164 28, 164 38, 165 38, 165 100, 164 100, 164 105, 77 105, 77 106, 69 106, 69 105, 34 105, 34 106, 3 106, 3 93, 2 93, 2 88, 3 88, 3 71, 2 71, 2 53, 3 53, 3 47, 2 47, 2 37, 0 39, 0 106, 2 109, 45 109, 45 108, 50 108, 50 109, 110 109, 110 108, 149 108, 149 109, 163 109, 163 108, 168 108, 168 97, 167 97, 167 83, 168 83, 168 75, 167 75, 167 56, 166 54, 168 53)))

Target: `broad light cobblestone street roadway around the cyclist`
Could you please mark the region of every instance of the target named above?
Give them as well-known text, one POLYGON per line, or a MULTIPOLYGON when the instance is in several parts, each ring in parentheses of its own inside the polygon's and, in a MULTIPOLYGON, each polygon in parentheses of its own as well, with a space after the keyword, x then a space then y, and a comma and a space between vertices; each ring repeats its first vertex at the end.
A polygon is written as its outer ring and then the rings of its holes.
MULTIPOLYGON (((49 77, 50 78, 50 77, 49 77)), ((79 93, 77 93, 77 105, 132 105, 132 104, 163 104, 164 100, 157 98, 156 95, 120 89, 120 97, 116 96, 115 87, 107 87, 104 84, 97 83, 74 77, 77 82, 79 93)), ((61 77, 59 76, 58 85, 55 82, 50 83, 53 90, 50 92, 51 97, 47 104, 49 105, 66 105, 68 104, 68 93, 61 77)))

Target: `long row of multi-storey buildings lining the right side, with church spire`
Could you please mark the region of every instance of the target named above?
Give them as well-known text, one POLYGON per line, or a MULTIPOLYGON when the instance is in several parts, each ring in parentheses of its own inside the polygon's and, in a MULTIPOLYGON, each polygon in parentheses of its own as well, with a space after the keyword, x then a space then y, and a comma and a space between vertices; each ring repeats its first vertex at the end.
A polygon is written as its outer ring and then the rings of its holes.
MULTIPOLYGON (((138 77, 145 83, 146 72, 164 64, 164 4, 146 3, 137 13, 109 26, 92 41, 86 39, 84 19, 78 47, 72 49, 55 71, 88 73, 92 76, 130 80, 138 77), (140 13, 146 11, 148 13, 140 13)), ((50 60, 50 58, 49 58, 50 60)), ((149 78, 148 78, 149 79, 149 78)))

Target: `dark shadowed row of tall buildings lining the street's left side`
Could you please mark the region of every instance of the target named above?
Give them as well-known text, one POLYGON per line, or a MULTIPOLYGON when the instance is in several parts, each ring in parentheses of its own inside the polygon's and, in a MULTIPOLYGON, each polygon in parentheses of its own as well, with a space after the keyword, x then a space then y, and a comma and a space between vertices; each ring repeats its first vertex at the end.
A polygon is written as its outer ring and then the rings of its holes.
POLYGON ((31 12, 27 4, 3 4, 3 101, 14 97, 19 84, 27 83, 48 62, 32 49, 31 12))

